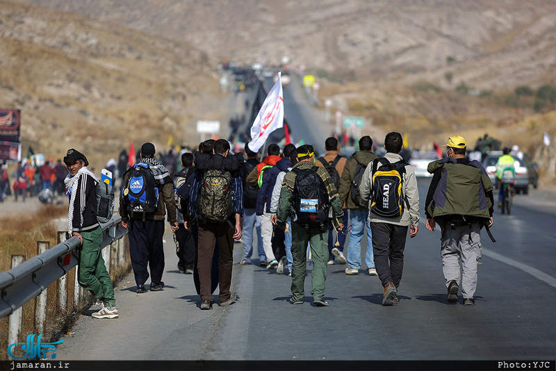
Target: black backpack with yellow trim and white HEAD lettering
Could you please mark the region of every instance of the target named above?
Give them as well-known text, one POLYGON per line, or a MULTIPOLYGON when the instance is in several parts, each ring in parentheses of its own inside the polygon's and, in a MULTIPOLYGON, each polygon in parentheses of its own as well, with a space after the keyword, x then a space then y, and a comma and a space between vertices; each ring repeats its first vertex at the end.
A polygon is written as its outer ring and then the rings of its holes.
POLYGON ((373 195, 370 197, 370 211, 382 217, 399 217, 404 212, 403 193, 404 160, 390 163, 386 158, 373 160, 373 195), (378 164, 381 167, 378 168, 378 164))

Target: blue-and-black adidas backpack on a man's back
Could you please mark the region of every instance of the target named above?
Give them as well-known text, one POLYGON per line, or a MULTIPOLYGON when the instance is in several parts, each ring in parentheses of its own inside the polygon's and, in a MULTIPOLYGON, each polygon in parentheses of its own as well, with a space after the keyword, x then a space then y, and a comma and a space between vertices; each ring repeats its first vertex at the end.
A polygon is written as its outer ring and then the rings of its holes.
POLYGON ((154 174, 147 163, 136 163, 129 170, 129 176, 122 189, 124 205, 131 213, 154 213, 158 208, 158 188, 154 181, 154 174))

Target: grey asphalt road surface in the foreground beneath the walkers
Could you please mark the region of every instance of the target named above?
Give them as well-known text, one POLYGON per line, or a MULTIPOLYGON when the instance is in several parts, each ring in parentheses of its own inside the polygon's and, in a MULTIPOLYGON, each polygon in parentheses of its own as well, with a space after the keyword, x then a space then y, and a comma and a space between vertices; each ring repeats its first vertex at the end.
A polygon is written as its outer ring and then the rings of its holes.
MULTIPOLYGON (((419 185, 423 203, 428 180, 419 185)), ((309 277, 304 305, 288 304, 291 279, 239 265, 238 243, 238 302, 200 311, 167 233, 165 290, 138 295, 130 275, 116 290, 120 318, 81 316, 56 360, 554 360, 555 213, 555 200, 532 190, 516 197, 512 215, 495 215, 498 242, 483 233, 475 306, 462 305, 461 297, 445 302, 440 232, 427 231, 424 220, 407 243, 400 304, 393 307, 381 305, 377 277, 363 270, 346 276, 345 265, 328 267, 329 307, 311 304, 309 277)))

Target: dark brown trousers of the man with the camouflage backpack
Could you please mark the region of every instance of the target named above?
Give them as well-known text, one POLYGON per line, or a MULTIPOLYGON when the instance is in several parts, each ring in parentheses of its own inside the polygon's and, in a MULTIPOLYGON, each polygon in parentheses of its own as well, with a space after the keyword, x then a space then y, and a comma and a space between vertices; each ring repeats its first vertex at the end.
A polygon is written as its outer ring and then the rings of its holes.
POLYGON ((234 250, 234 229, 228 224, 211 224, 198 222, 199 224, 199 247, 197 249, 197 269, 199 270, 199 282, 201 286, 201 300, 213 301, 211 292, 212 279, 211 267, 215 245, 218 242, 218 284, 220 292, 218 299, 226 302, 230 296, 231 269, 234 263, 232 252, 234 250))

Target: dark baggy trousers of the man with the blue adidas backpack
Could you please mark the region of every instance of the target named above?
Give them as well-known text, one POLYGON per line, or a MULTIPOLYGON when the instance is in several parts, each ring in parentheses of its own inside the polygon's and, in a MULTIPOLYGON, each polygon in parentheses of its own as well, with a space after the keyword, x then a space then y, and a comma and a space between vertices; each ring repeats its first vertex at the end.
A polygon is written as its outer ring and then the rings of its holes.
POLYGON ((151 282, 162 281, 164 272, 163 220, 129 221, 129 254, 131 266, 138 285, 144 285, 151 271, 151 282))

